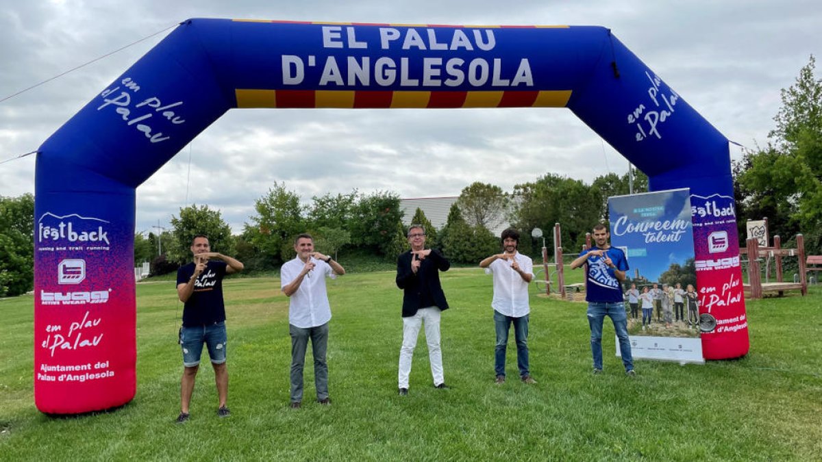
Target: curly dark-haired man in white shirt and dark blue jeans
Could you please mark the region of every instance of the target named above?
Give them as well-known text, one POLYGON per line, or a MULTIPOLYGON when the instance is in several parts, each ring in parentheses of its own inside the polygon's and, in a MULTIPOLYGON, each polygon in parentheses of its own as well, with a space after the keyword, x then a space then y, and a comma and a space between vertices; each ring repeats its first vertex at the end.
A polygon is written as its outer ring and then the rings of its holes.
POLYGON ((506 381, 506 347, 511 324, 514 324, 520 379, 533 384, 537 381, 531 378, 528 362, 528 316, 531 312, 528 303, 528 284, 533 280, 533 261, 517 252, 520 233, 516 229, 509 228, 503 231, 501 240, 504 252, 479 262, 480 268, 485 268, 486 273, 494 276, 494 298, 491 307, 494 308, 496 326, 496 384, 501 385, 506 381))

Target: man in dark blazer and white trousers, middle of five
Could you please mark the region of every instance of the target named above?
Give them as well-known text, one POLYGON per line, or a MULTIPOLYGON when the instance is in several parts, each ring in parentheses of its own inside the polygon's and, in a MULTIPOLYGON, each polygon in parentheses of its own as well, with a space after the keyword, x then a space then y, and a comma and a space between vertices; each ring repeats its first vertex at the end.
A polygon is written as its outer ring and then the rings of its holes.
POLYGON ((436 388, 447 388, 442 372, 440 350, 440 312, 448 309, 442 293, 440 271, 451 264, 436 250, 425 248, 425 229, 412 224, 409 228, 411 250, 397 258, 397 287, 403 294, 403 346, 399 349, 399 394, 408 395, 411 358, 417 346, 419 328, 425 323, 428 361, 436 388))

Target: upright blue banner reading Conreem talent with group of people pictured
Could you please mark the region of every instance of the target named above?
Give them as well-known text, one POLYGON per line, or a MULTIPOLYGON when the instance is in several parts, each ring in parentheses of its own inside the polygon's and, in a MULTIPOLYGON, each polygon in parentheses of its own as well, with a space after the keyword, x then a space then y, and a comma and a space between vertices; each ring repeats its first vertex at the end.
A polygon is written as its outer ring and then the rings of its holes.
POLYGON ((623 289, 634 358, 704 363, 689 190, 615 196, 608 210, 611 244, 630 266, 623 289))

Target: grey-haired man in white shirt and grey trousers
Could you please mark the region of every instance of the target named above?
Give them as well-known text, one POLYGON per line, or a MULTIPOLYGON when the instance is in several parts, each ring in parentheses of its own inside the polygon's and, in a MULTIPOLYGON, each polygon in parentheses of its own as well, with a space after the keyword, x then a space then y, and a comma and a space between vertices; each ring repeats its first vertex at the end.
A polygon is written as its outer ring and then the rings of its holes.
POLYGON ((331 307, 326 293, 326 277, 336 279, 345 270, 330 255, 314 252, 314 239, 300 234, 294 242, 297 256, 279 270, 281 288, 289 300, 289 334, 291 335, 291 407, 302 403, 302 367, 305 365, 308 339, 314 355, 316 400, 330 404, 328 397, 328 322, 331 307))

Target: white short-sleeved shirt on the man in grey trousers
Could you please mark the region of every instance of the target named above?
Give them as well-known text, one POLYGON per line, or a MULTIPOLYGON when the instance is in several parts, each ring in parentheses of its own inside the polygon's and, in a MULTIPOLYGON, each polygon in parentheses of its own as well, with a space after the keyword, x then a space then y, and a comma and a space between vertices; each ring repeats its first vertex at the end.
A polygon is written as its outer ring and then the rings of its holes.
MULTIPOLYGON (((302 283, 289 300, 289 324, 300 329, 322 326, 331 320, 331 307, 326 293, 326 277, 337 275, 325 261, 310 257, 314 269, 302 278, 302 283)), ((302 271, 305 263, 298 257, 286 261, 279 269, 280 288, 289 285, 302 271)))

